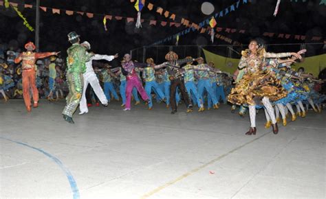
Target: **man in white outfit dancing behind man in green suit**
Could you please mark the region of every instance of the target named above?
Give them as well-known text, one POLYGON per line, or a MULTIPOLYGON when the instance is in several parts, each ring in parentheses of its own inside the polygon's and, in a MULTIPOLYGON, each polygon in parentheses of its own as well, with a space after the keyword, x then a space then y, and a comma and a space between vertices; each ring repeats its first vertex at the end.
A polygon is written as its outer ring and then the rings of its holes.
MULTIPOLYGON (((84 41, 80 45, 83 45, 87 50, 91 49, 91 45, 87 42, 84 41)), ((86 72, 83 74, 84 76, 84 89, 83 89, 83 95, 82 99, 80 100, 79 103, 79 109, 80 113, 79 115, 83 115, 84 113, 88 113, 88 108, 87 108, 87 102, 86 102, 86 88, 88 84, 91 84, 91 87, 94 90, 94 93, 96 96, 98 96, 98 99, 100 102, 104 105, 107 106, 107 97, 105 97, 105 94, 100 86, 100 82, 98 82, 98 77, 96 76, 96 73, 94 72, 93 66, 92 66, 92 61, 93 60, 107 60, 111 61, 114 58, 118 58, 118 54, 115 54, 114 56, 107 56, 107 55, 99 55, 95 54, 94 56, 91 57, 91 59, 86 62, 86 72)))

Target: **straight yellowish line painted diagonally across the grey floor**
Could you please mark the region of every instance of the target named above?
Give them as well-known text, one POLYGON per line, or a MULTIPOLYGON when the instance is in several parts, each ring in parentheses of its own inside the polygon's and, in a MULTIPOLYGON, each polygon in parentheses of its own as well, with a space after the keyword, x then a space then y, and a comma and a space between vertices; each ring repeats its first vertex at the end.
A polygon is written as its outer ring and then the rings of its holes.
POLYGON ((156 194, 159 191, 162 191, 162 189, 165 189, 166 187, 169 187, 170 185, 173 185, 181 180, 183 180, 184 178, 191 176, 192 174, 195 174, 196 172, 199 172, 199 170, 204 169, 204 167, 207 167, 208 165, 212 165, 213 163, 216 163, 217 161, 223 159, 224 157, 228 156, 229 154, 232 154, 233 152, 236 152, 237 150, 243 148, 244 146, 257 141, 258 139, 261 139, 261 137, 264 137, 266 134, 270 134, 270 132, 266 132, 265 134, 262 134, 261 136, 253 139, 252 141, 248 141, 247 143, 244 143, 243 145, 240 145, 239 147, 230 150, 229 152, 227 152, 226 154, 222 154, 221 156, 218 156, 216 159, 213 159, 211 161, 209 161, 208 163, 197 167, 195 169, 192 169, 190 172, 186 172, 185 174, 183 174, 182 176, 179 176, 177 178, 175 178, 174 180, 169 181, 168 183, 165 183, 164 185, 161 185, 160 187, 157 187, 156 189, 153 189, 152 191, 147 192, 146 194, 144 194, 143 196, 141 196, 140 198, 145 199, 145 198, 149 198, 151 196, 153 196, 154 194, 156 194))

